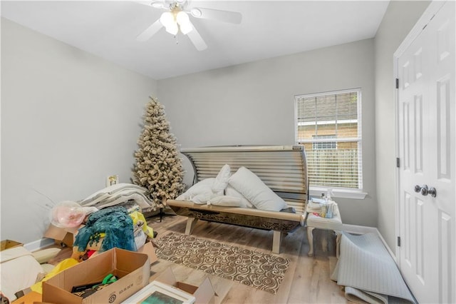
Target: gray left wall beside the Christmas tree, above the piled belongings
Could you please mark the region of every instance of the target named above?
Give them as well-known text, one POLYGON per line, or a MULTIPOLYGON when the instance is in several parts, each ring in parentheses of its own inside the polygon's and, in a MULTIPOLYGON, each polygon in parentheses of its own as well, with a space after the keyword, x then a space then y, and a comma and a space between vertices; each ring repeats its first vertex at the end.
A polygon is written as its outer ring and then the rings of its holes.
POLYGON ((156 91, 151 78, 2 18, 1 239, 38 240, 53 203, 86 198, 112 174, 129 182, 156 91))

